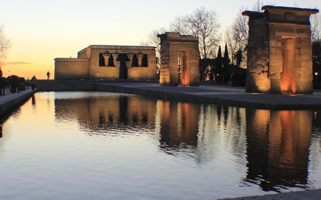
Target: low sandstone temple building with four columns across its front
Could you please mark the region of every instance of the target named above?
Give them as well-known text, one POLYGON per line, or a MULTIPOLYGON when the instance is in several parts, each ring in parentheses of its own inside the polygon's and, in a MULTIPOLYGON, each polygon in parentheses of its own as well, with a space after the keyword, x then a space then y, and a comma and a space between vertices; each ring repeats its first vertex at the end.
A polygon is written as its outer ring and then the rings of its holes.
POLYGON ((55 80, 157 79, 155 48, 90 45, 77 58, 55 58, 55 80))

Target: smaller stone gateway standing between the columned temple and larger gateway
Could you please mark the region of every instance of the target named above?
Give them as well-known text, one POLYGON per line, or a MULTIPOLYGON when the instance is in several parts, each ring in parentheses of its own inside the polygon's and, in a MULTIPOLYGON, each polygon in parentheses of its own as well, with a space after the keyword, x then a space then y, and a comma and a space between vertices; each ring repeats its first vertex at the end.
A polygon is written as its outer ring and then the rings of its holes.
POLYGON ((160 38, 160 85, 178 85, 178 53, 181 53, 180 85, 199 86, 198 37, 165 32, 160 38))

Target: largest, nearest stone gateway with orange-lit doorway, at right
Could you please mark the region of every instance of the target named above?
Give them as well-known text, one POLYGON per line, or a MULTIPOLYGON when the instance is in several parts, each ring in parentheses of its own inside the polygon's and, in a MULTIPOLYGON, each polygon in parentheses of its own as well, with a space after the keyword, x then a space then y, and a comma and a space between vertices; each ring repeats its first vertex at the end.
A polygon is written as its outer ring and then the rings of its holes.
POLYGON ((249 17, 246 92, 313 93, 309 17, 317 9, 263 6, 249 17))

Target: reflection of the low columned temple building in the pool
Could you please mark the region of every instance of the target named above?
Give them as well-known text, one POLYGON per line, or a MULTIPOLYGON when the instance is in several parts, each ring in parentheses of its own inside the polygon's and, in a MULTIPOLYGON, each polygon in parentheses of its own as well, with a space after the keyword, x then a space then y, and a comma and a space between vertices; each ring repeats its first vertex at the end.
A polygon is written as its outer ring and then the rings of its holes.
POLYGON ((55 99, 55 115, 56 120, 77 120, 88 134, 106 134, 106 130, 116 126, 129 131, 138 124, 152 131, 155 129, 155 106, 156 101, 138 96, 55 99))

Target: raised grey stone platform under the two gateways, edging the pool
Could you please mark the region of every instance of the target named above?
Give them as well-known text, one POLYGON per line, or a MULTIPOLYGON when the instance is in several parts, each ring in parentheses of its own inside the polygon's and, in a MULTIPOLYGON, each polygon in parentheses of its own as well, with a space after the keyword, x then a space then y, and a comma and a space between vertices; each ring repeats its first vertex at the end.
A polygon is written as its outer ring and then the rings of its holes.
MULTIPOLYGON (((143 96, 167 97, 218 105, 255 107, 266 109, 307 109, 321 108, 321 90, 313 94, 263 94, 247 93, 244 87, 226 86, 160 86, 148 83, 99 83, 112 86, 114 91, 128 92, 143 96), (116 91, 115 91, 116 90, 116 91)), ((100 88, 100 87, 97 87, 100 88)), ((110 89, 110 87, 109 87, 110 89)))

